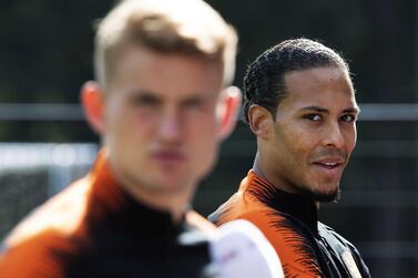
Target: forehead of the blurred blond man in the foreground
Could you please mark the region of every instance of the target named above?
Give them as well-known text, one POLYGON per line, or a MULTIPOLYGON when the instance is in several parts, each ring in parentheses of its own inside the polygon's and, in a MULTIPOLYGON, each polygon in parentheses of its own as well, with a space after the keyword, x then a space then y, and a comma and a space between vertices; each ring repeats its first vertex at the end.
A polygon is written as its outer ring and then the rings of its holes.
POLYGON ((197 55, 159 53, 131 47, 114 63, 111 91, 134 90, 149 94, 181 97, 218 93, 222 64, 197 55))

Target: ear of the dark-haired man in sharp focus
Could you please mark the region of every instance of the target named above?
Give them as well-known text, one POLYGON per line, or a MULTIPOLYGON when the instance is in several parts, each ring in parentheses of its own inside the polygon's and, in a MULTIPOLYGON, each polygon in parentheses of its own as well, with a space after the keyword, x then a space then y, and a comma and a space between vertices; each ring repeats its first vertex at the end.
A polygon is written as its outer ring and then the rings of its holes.
POLYGON ((273 116, 265 107, 253 104, 248 109, 248 124, 257 137, 266 138, 273 125, 273 116))

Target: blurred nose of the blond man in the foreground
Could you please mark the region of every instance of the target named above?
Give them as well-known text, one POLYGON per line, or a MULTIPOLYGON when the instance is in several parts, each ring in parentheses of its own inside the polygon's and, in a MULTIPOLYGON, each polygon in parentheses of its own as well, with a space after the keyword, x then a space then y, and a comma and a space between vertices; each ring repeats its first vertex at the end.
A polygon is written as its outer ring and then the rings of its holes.
POLYGON ((181 138, 182 122, 180 112, 169 109, 160 121, 159 135, 164 143, 175 144, 181 138))

